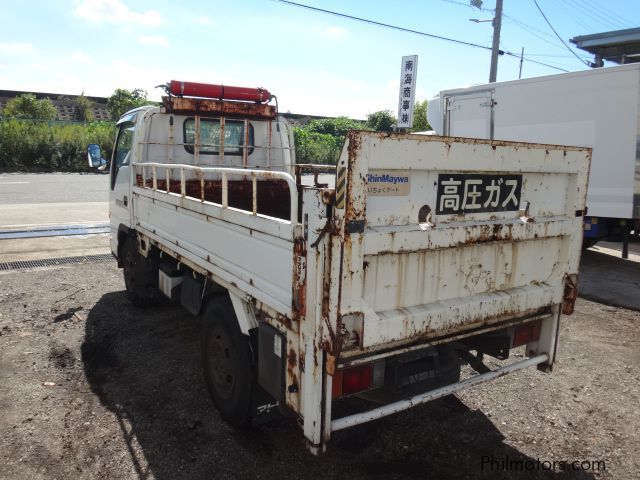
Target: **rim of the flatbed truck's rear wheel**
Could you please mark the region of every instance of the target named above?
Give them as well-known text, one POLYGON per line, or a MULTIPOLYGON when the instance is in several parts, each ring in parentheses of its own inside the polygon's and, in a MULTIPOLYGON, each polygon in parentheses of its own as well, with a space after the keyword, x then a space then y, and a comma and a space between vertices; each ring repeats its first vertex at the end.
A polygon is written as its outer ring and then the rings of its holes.
POLYGON ((220 326, 215 326, 209 334, 207 356, 211 383, 218 395, 228 400, 233 394, 236 374, 231 340, 220 326))

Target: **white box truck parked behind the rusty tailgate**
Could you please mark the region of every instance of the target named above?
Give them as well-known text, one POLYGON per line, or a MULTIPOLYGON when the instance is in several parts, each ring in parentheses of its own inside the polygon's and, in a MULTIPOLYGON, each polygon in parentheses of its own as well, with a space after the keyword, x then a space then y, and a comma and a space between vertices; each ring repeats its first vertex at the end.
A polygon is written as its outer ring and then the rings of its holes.
POLYGON ((441 91, 438 135, 593 149, 585 246, 640 233, 640 64, 441 91))

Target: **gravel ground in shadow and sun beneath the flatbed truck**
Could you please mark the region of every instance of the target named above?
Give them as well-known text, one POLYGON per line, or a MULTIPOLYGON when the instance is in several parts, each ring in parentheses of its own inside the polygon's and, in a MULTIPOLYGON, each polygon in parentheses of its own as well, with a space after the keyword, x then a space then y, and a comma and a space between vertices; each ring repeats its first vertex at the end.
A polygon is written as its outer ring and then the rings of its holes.
POLYGON ((123 289, 112 262, 0 274, 0 478, 640 478, 639 312, 579 300, 552 374, 356 427, 314 457, 293 420, 244 433, 221 422, 198 321, 137 310, 123 289))

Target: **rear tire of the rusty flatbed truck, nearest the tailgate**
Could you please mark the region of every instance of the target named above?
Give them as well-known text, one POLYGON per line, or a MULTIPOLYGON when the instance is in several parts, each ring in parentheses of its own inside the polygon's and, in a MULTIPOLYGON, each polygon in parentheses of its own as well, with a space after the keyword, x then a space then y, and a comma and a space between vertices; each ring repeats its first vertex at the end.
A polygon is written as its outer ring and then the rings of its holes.
POLYGON ((204 380, 220 417, 235 427, 251 422, 253 361, 249 338, 240 331, 227 298, 207 305, 202 322, 204 380))

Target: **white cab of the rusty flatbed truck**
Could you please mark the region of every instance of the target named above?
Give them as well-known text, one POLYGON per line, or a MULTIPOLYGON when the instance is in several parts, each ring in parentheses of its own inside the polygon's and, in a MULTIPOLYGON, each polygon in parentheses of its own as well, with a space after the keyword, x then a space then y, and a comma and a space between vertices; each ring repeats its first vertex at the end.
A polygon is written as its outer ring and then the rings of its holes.
MULTIPOLYGON (((183 85, 184 82, 175 82, 174 91, 179 91, 179 84, 183 85)), ((196 88, 193 85, 198 84, 189 85, 196 88)), ((170 83, 167 86, 169 92, 171 88, 170 83)), ((201 105, 197 100, 170 95, 164 98, 160 106, 140 107, 127 112, 118 120, 113 156, 109 164, 111 250, 114 255, 118 255, 118 236, 122 235, 119 232, 133 226, 133 208, 129 205, 134 183, 133 164, 153 159, 163 165, 293 171, 293 130, 285 118, 276 114, 274 106, 243 103, 240 104, 240 111, 234 111, 229 108, 237 106, 233 102, 209 100, 209 103, 212 101, 227 109, 221 108, 218 115, 211 116, 200 111, 201 105)), ((170 172, 171 170, 167 170, 167 173, 170 172)), ((200 181, 196 177, 194 173, 187 173, 187 189, 200 181)), ((206 185, 211 186, 206 195, 220 197, 221 189, 215 188, 215 184, 219 182, 214 181, 219 180, 220 175, 208 173, 203 178, 206 185)), ((166 178, 160 179, 160 182, 166 184, 166 178)), ((261 204, 265 213, 284 215, 287 207, 280 207, 282 202, 277 198, 278 182, 273 183, 273 189, 260 189, 260 192, 275 193, 272 199, 274 201, 264 201, 261 204)), ((231 205, 246 206, 251 200, 248 198, 246 182, 232 182, 231 185, 234 188, 230 192, 231 205)))

